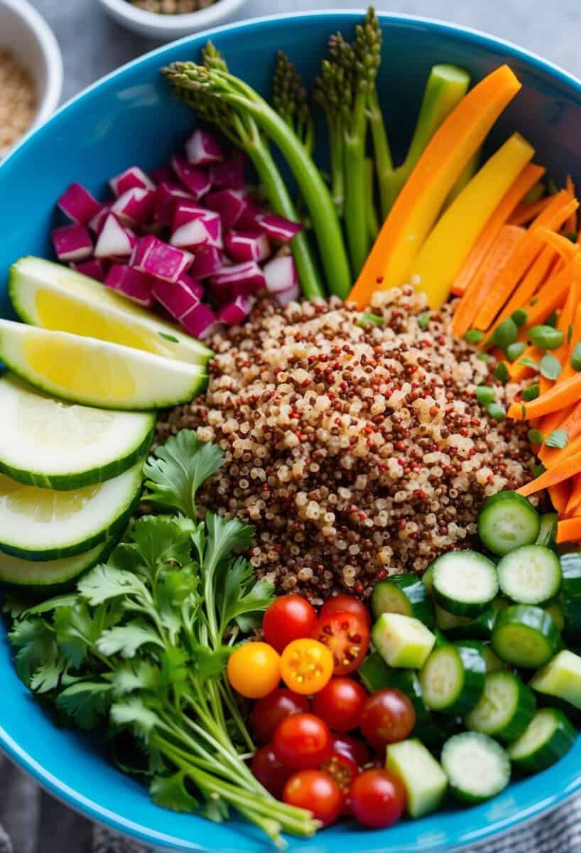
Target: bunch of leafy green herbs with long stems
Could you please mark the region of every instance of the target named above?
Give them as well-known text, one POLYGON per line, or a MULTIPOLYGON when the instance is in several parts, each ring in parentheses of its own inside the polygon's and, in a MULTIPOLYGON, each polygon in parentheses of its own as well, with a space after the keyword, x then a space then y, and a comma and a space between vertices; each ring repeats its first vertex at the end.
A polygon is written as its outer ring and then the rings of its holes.
POLYGON ((20 678, 78 728, 133 735, 155 803, 215 821, 235 808, 280 846, 281 831, 318 824, 273 799, 242 757, 253 744, 224 669, 272 587, 235 555, 250 526, 197 520, 196 490, 221 463, 193 432, 170 438, 147 461, 145 497, 172 514, 138 519, 106 564, 21 612, 9 638, 20 678))

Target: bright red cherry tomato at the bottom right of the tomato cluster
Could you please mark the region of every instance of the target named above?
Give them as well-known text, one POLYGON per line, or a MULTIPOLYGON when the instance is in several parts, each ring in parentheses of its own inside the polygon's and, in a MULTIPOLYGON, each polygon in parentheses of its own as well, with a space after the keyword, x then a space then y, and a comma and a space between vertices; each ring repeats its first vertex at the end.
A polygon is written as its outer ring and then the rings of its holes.
POLYGON ((399 821, 406 808, 403 782, 387 770, 364 770, 351 786, 351 809, 364 827, 380 829, 399 821))

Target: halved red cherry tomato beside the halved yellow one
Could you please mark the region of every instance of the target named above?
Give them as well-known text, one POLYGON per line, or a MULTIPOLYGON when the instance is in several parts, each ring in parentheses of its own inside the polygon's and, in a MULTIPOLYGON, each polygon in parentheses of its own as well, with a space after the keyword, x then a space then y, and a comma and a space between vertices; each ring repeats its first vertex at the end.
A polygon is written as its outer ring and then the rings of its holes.
POLYGON ((311 636, 331 651, 336 676, 348 676, 358 669, 369 647, 368 624, 347 611, 319 618, 311 636))

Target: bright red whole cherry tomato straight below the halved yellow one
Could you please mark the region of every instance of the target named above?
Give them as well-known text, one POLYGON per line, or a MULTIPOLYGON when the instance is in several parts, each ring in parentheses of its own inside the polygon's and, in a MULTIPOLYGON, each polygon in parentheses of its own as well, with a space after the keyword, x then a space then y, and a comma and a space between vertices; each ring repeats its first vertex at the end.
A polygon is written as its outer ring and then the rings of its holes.
POLYGON ((291 714, 275 728, 273 750, 293 770, 314 769, 331 758, 331 732, 314 714, 291 714))

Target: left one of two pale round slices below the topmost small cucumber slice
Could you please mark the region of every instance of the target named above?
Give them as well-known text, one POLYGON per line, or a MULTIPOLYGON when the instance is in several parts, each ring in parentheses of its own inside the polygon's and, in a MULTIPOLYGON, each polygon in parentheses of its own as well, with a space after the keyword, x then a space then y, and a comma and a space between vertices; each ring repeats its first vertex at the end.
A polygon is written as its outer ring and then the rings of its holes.
POLYGON ((498 594, 494 563, 475 551, 450 551, 434 560, 434 597, 456 616, 477 616, 498 594))

